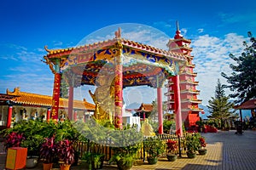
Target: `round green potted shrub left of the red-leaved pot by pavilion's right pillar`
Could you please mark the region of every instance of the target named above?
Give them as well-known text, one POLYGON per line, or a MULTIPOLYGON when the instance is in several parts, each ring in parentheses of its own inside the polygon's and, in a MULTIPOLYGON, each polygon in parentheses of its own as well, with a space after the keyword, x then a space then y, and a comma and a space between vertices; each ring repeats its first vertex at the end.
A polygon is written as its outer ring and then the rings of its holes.
POLYGON ((143 141, 144 150, 148 153, 148 164, 157 163, 160 154, 166 150, 166 144, 161 139, 150 137, 143 141))

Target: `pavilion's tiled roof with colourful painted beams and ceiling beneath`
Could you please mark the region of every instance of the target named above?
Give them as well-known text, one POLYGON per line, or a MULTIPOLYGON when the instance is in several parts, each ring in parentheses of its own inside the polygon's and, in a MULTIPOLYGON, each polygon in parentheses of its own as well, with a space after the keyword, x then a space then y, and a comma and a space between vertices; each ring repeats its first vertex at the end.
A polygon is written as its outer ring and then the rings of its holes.
POLYGON ((60 62, 64 79, 73 87, 96 85, 96 78, 101 74, 114 77, 114 62, 119 49, 122 49, 123 88, 141 85, 156 88, 164 83, 166 77, 179 74, 179 67, 186 65, 184 54, 121 37, 73 48, 45 47, 48 54, 44 56, 44 62, 54 73, 53 66, 60 62))

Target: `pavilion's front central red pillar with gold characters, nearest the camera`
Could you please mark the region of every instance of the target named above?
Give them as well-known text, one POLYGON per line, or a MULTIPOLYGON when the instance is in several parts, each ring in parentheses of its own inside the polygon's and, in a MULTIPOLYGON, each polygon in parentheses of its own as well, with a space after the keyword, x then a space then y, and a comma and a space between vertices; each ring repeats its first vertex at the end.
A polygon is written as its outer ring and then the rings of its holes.
POLYGON ((122 46, 118 45, 117 54, 115 56, 115 68, 114 68, 114 126, 122 129, 123 123, 123 62, 122 62, 122 46))

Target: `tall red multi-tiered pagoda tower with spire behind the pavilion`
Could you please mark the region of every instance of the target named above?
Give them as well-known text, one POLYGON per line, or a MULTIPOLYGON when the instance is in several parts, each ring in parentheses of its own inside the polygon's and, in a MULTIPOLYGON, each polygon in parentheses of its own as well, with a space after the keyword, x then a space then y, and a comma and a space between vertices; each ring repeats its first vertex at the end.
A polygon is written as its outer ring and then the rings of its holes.
MULTIPOLYGON (((182 120, 185 127, 195 126, 195 122, 200 121, 199 112, 203 111, 199 108, 201 104, 201 99, 197 96, 200 94, 200 90, 196 89, 198 82, 195 82, 195 77, 197 74, 193 71, 195 65, 193 64, 193 58, 190 53, 192 48, 189 47, 191 41, 186 39, 179 31, 177 24, 177 31, 174 39, 170 39, 167 46, 169 51, 175 53, 182 53, 187 58, 187 64, 183 67, 182 73, 179 75, 179 86, 180 86, 180 98, 181 98, 181 112, 182 120)), ((167 93, 167 107, 169 111, 174 111, 175 109, 175 90, 174 83, 172 79, 166 83, 167 93)))

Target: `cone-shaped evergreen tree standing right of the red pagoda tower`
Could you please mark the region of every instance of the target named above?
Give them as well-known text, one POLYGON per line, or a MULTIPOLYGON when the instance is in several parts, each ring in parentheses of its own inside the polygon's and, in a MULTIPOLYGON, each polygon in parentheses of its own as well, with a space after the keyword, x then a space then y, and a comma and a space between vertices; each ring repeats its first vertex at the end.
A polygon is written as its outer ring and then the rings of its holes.
POLYGON ((224 85, 218 79, 217 86, 215 87, 215 97, 209 99, 207 107, 211 114, 208 118, 220 122, 222 128, 227 127, 228 120, 237 117, 233 110, 234 104, 229 99, 224 94, 224 85))

